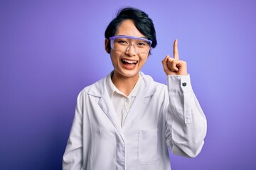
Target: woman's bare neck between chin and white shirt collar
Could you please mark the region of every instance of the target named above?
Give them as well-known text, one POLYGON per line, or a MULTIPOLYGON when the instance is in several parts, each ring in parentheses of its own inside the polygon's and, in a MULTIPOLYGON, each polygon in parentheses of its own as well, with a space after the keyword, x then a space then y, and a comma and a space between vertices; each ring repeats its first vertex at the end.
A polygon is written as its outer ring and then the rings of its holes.
POLYGON ((138 79, 139 74, 135 75, 134 77, 122 77, 115 73, 112 75, 112 82, 114 86, 116 86, 117 89, 122 91, 126 96, 129 96, 138 79))

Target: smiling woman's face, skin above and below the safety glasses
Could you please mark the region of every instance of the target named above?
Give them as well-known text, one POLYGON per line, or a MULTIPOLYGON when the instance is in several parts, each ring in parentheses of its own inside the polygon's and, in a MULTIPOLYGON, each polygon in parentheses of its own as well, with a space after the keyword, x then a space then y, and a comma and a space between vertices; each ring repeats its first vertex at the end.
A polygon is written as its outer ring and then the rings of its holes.
MULTIPOLYGON (((129 35, 133 37, 145 38, 137 30, 132 20, 124 20, 117 28, 114 36, 129 35)), ((130 46, 126 52, 110 50, 110 57, 114 66, 114 77, 132 78, 139 77, 139 71, 146 63, 149 54, 137 54, 134 46, 130 46)))

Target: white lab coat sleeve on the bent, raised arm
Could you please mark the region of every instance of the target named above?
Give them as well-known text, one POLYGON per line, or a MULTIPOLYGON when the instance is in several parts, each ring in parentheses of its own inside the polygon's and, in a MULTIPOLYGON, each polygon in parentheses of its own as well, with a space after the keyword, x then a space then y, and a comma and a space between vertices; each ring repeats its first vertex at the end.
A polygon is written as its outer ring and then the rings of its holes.
POLYGON ((167 76, 166 142, 172 154, 196 157, 206 137, 206 116, 193 93, 189 75, 167 76))

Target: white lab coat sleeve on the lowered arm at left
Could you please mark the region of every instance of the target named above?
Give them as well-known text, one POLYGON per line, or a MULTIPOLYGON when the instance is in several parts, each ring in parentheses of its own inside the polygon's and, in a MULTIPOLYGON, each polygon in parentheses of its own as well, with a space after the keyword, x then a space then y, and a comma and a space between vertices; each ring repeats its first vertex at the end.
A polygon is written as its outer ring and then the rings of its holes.
POLYGON ((63 155, 64 170, 82 169, 82 94, 78 96, 75 117, 63 155))

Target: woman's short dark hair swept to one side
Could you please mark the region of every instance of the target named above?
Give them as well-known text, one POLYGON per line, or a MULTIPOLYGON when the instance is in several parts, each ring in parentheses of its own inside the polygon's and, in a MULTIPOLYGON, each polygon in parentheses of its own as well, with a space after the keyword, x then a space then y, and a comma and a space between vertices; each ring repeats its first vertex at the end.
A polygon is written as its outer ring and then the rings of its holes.
MULTIPOLYGON (((120 8, 117 12, 116 18, 114 18, 107 26, 107 29, 105 30, 105 38, 109 40, 110 37, 114 36, 122 21, 127 19, 134 21, 134 25, 139 30, 139 32, 145 35, 147 39, 152 41, 152 48, 156 47, 157 41, 154 23, 151 18, 149 18, 148 14, 142 10, 139 10, 138 8, 120 8)), ((110 43, 107 45, 107 47, 110 49, 110 43)), ((150 53, 151 52, 149 52, 149 54, 150 53)))

